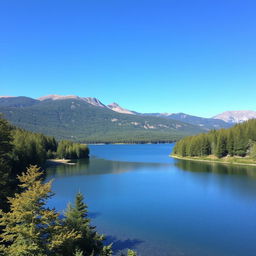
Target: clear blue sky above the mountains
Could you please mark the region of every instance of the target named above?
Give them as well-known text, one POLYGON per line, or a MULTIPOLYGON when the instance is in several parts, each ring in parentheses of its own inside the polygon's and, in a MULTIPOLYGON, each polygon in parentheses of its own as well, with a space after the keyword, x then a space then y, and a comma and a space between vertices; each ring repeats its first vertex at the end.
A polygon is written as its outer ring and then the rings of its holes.
POLYGON ((0 3, 0 95, 139 112, 256 110, 256 1, 0 3))

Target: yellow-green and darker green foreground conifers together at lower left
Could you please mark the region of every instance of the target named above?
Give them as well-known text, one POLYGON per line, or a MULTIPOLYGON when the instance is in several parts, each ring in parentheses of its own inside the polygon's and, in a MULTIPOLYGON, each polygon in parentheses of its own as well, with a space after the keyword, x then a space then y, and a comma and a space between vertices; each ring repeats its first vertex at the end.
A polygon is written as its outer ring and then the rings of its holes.
MULTIPOLYGON (((112 256, 112 244, 90 224, 87 205, 78 193, 64 218, 47 207, 53 196, 51 181, 43 183, 43 172, 30 166, 18 177, 21 192, 8 198, 10 210, 0 210, 0 255, 3 256, 112 256)), ((128 250, 127 256, 136 256, 128 250)))

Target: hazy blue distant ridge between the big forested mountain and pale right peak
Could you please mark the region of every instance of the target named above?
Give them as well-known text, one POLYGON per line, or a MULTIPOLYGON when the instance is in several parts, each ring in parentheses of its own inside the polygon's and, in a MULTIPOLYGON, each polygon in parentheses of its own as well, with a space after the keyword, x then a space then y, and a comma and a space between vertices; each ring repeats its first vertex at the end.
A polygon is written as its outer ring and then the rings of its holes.
POLYGON ((158 117, 165 117, 173 120, 178 120, 181 122, 197 125, 200 128, 208 131, 212 129, 221 129, 221 128, 229 128, 231 124, 226 123, 223 120, 219 119, 213 119, 213 118, 204 118, 204 117, 198 117, 198 116, 192 116, 184 113, 147 113, 144 115, 151 115, 151 116, 158 116, 158 117))

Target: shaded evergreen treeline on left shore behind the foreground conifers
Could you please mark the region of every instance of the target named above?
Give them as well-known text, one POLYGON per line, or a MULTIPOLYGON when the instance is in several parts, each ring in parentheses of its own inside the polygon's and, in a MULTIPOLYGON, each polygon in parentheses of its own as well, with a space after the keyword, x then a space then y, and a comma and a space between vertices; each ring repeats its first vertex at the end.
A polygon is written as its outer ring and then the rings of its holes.
POLYGON ((0 117, 0 205, 17 189, 16 176, 29 165, 43 166, 48 158, 87 158, 86 145, 69 141, 57 142, 54 137, 28 132, 11 126, 0 117))

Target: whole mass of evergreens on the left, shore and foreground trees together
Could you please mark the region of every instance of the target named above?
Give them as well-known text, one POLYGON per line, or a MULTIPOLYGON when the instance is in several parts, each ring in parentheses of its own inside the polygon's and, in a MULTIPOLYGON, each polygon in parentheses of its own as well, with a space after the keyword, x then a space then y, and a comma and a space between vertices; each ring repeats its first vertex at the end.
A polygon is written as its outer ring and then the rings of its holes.
MULTIPOLYGON (((0 255, 113 255, 112 244, 105 244, 105 236, 91 225, 83 195, 76 195, 64 216, 50 209, 51 181, 45 183, 42 168, 31 165, 42 166, 49 157, 84 158, 88 154, 85 145, 58 143, 0 118, 0 255)), ((128 249, 127 256, 136 256, 136 252, 128 249)))

